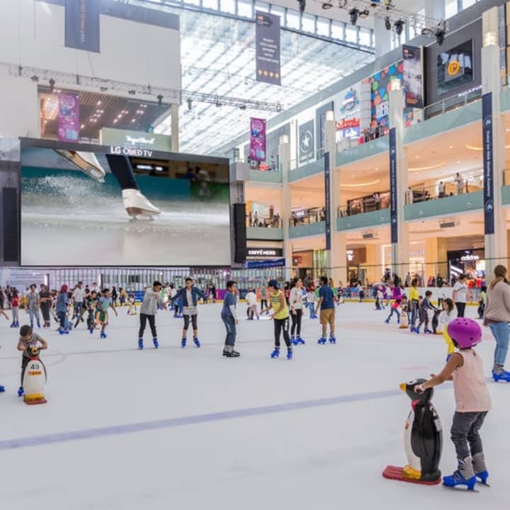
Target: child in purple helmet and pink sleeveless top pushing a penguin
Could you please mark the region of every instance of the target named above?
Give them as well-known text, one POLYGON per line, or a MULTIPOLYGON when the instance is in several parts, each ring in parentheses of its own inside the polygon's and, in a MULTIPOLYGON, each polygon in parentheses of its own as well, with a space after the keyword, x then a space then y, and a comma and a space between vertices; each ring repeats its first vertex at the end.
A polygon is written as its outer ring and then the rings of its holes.
POLYGON ((416 385, 414 391, 420 393, 446 380, 453 380, 456 407, 451 438, 457 453, 458 469, 453 475, 443 477, 443 484, 447 487, 466 485, 467 489, 473 490, 476 482, 487 484, 489 477, 480 429, 491 409, 491 397, 482 356, 473 349, 482 341, 482 329, 474 320, 458 317, 448 324, 447 330, 458 351, 450 356, 439 375, 416 385))

